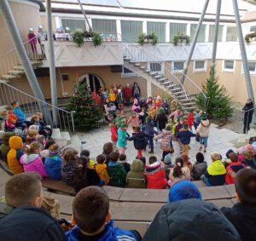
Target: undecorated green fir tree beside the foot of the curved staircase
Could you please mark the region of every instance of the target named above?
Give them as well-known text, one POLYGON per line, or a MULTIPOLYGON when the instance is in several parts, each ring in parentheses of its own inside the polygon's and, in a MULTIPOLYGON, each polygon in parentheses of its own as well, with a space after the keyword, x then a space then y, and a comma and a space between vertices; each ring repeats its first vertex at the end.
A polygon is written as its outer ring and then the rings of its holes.
POLYGON ((207 96, 200 94, 196 96, 196 103, 208 113, 208 117, 218 120, 226 120, 232 117, 233 108, 230 95, 224 86, 218 84, 218 77, 215 76, 214 67, 211 68, 210 77, 202 85, 202 91, 207 96))

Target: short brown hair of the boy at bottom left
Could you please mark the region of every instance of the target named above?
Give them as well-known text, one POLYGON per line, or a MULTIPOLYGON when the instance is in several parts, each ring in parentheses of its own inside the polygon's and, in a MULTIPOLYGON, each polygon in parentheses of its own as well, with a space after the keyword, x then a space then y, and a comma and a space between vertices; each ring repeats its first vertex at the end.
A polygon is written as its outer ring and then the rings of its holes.
POLYGON ((6 204, 15 208, 31 205, 34 198, 42 191, 41 178, 34 172, 13 175, 5 185, 6 204))

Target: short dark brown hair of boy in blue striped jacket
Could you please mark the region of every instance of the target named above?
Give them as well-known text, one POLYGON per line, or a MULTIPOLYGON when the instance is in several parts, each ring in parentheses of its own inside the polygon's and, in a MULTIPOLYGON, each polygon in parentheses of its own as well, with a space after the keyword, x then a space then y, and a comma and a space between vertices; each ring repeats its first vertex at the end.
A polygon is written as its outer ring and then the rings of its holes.
POLYGON ((105 223, 108 209, 108 194, 98 186, 85 187, 73 199, 73 216, 84 232, 97 232, 105 223))

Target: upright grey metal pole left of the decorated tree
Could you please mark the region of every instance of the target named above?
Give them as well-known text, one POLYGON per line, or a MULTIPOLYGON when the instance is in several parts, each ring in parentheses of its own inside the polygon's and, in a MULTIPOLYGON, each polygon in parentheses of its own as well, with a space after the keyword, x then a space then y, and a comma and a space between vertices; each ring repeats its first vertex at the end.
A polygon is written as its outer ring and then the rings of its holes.
MULTIPOLYGON (((53 42, 52 32, 52 15, 51 15, 51 0, 46 0, 46 15, 47 15, 47 44, 49 51, 49 82, 50 82, 50 97, 51 104, 53 106, 58 105, 57 100, 57 83, 56 83, 56 72, 55 72, 55 49, 53 42)), ((58 123, 58 112, 55 107, 52 108, 53 123, 58 123)))

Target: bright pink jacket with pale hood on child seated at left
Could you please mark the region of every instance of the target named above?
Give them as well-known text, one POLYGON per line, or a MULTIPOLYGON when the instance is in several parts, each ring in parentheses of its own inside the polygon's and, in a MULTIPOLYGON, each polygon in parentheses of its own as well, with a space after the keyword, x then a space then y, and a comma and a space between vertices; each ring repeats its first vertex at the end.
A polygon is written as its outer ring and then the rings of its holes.
POLYGON ((24 154, 20 158, 20 164, 23 164, 24 171, 34 171, 41 177, 47 176, 42 159, 38 154, 24 154))

